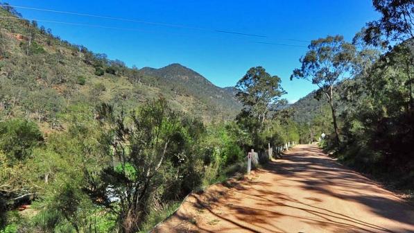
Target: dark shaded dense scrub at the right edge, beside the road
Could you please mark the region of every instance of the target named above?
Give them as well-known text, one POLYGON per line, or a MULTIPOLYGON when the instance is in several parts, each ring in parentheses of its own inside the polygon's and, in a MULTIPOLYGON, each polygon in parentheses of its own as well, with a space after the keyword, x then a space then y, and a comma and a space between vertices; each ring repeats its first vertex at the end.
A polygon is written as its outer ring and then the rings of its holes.
POLYGON ((340 156, 363 171, 414 187, 414 53, 407 45, 395 46, 349 84, 359 101, 344 113, 340 156))

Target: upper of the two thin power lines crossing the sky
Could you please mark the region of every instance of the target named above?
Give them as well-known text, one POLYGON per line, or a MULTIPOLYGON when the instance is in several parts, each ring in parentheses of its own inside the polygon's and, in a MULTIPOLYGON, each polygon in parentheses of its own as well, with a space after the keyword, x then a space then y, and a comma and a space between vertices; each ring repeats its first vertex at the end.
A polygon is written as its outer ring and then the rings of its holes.
POLYGON ((51 9, 44 9, 44 8, 31 8, 27 6, 13 6, 13 5, 6 5, 1 4, 0 6, 10 6, 12 8, 21 8, 21 9, 27 9, 27 10, 38 10, 38 11, 44 11, 44 12, 54 12, 54 13, 60 13, 60 14, 67 14, 67 15, 79 15, 84 17, 95 17, 95 18, 101 18, 101 19, 112 19, 117 21, 130 21, 135 22, 139 24, 150 24, 150 25, 157 25, 157 26, 169 26, 173 28, 187 28, 187 29, 196 29, 196 30, 202 30, 202 31, 212 31, 216 33, 229 33, 229 34, 236 34, 236 35, 246 35, 246 36, 252 36, 252 37, 267 37, 266 35, 257 35, 257 34, 250 34, 250 33, 239 33, 234 31, 223 31, 218 29, 210 29, 210 28, 200 28, 200 27, 193 27, 193 26, 186 26, 181 24, 166 24, 166 23, 159 23, 159 22, 153 22, 153 21, 143 21, 143 20, 137 20, 137 19, 126 19, 121 17, 111 17, 111 16, 105 16, 105 15, 92 15, 92 14, 85 14, 80 12, 69 12, 69 11, 62 11, 62 10, 51 10, 51 9))

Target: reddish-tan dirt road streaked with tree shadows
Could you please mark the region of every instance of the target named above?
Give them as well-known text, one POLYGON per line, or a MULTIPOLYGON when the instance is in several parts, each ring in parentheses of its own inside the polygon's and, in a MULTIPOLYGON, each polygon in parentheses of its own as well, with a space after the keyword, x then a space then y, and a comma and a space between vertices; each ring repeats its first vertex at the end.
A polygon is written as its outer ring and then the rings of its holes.
POLYGON ((414 207, 300 145, 250 178, 189 196, 154 232, 414 232, 414 207))

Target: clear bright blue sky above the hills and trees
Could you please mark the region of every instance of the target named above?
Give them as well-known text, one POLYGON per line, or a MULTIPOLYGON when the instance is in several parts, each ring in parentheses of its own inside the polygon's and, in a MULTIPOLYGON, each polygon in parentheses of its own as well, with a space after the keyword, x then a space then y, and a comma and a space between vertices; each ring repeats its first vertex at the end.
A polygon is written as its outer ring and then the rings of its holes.
POLYGON ((289 80, 307 49, 252 42, 307 46, 307 42, 293 40, 310 41, 336 34, 351 40, 367 21, 378 18, 371 0, 8 0, 8 3, 266 35, 249 37, 17 8, 26 18, 136 28, 137 31, 128 31, 39 22, 63 40, 83 44, 96 53, 106 53, 128 66, 159 68, 178 62, 198 71, 212 83, 226 87, 235 85, 250 67, 261 65, 270 74, 282 78, 282 86, 288 92, 284 97, 291 102, 316 88, 306 81, 289 80))

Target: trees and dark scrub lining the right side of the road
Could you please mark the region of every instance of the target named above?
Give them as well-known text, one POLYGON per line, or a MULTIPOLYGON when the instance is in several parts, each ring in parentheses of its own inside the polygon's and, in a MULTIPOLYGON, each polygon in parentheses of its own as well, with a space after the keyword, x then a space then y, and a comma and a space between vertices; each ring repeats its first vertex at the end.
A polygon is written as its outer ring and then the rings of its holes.
POLYGON ((409 193, 414 189, 414 3, 373 4, 381 18, 352 42, 340 36, 311 42, 292 78, 320 88, 293 106, 308 118, 294 119, 302 126, 302 141, 318 141, 325 132, 322 147, 341 162, 409 193), (311 101, 313 96, 320 101, 311 101))

